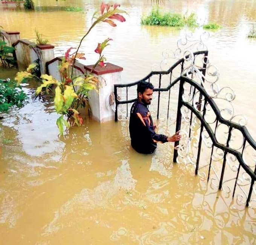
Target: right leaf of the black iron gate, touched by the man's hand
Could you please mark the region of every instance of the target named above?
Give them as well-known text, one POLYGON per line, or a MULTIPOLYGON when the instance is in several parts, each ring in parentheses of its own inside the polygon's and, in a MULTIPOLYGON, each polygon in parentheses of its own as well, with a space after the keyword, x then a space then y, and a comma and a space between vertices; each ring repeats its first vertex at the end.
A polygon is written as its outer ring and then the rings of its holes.
MULTIPOLYGON (((177 81, 176 81, 177 82, 177 81)), ((211 143, 210 143, 210 147, 211 148, 211 155, 210 155, 210 162, 207 165, 204 165, 203 167, 207 167, 209 166, 208 169, 208 177, 207 177, 207 181, 209 181, 209 176, 210 176, 210 170, 211 170, 211 164, 212 164, 212 157, 213 157, 213 147, 219 148, 223 151, 223 157, 220 159, 222 161, 222 169, 221 169, 221 175, 220 177, 217 176, 217 179, 219 181, 218 183, 218 187, 219 189, 223 189, 222 185, 223 183, 230 183, 231 181, 235 182, 233 185, 233 195, 232 197, 234 197, 235 195, 235 191, 236 191, 236 186, 239 186, 239 188, 242 190, 243 194, 246 197, 246 206, 249 205, 250 199, 251 199, 251 195, 252 192, 254 191, 254 193, 256 194, 256 185, 254 184, 256 181, 256 162, 253 163, 246 163, 243 155, 244 155, 244 150, 245 147, 250 146, 253 150, 256 150, 256 141, 251 137, 250 133, 248 132, 247 128, 245 126, 241 126, 238 123, 235 122, 231 122, 229 120, 224 119, 221 116, 221 111, 219 110, 219 108, 217 107, 215 101, 213 100, 212 97, 210 97, 208 95, 208 93, 206 92, 206 90, 203 88, 203 86, 201 86, 200 84, 198 84, 197 82, 193 81, 192 79, 186 77, 186 76, 181 76, 180 77, 180 88, 179 88, 179 97, 178 97, 178 110, 177 110, 177 121, 176 121, 176 131, 181 129, 181 120, 185 120, 185 116, 184 114, 182 115, 182 111, 184 112, 184 110, 182 109, 183 107, 186 107, 187 109, 189 109, 189 113, 187 113, 188 111, 186 111, 186 114, 190 114, 190 127, 192 125, 192 116, 194 115, 195 117, 197 117, 200 120, 200 135, 199 135, 199 141, 198 141, 198 151, 197 151, 197 156, 196 156, 196 162, 195 162, 195 174, 198 174, 198 170, 199 170, 199 162, 200 162, 200 153, 201 153, 201 144, 202 144, 202 140, 203 140, 203 131, 206 131, 207 134, 209 135, 209 137, 211 139, 211 143), (192 97, 190 99, 188 99, 187 101, 184 100, 183 98, 183 94, 184 94, 184 84, 187 83, 192 87, 192 97), (195 91, 198 91, 200 93, 200 95, 202 96, 202 110, 198 110, 197 107, 195 107, 195 103, 194 103, 194 96, 195 96, 195 91), (211 110, 215 113, 216 119, 216 125, 215 125, 215 131, 213 132, 211 126, 209 125, 209 123, 206 120, 206 113, 207 110, 209 111, 209 107, 211 108, 211 110), (226 144, 222 144, 219 143, 217 138, 216 138, 216 129, 218 128, 219 124, 224 124, 226 125, 229 130, 228 130, 228 136, 227 136, 227 142, 226 144), (239 132, 241 132, 242 136, 243 136, 243 142, 242 142, 242 147, 241 147, 241 152, 239 152, 238 149, 233 149, 232 147, 230 147, 230 142, 232 139, 232 131, 233 129, 237 129, 239 132), (226 161, 227 161, 227 154, 231 154, 233 156, 235 156, 235 158, 237 159, 237 161, 239 162, 239 165, 237 168, 235 168, 235 172, 236 172, 236 177, 235 178, 227 178, 226 181, 224 181, 224 174, 225 174, 225 169, 226 167, 226 161), (239 177, 239 172, 241 171, 241 167, 242 169, 250 176, 250 179, 246 179, 244 177, 239 177), (247 180, 247 183, 246 181, 247 180), (242 183, 244 182, 244 183, 242 183), (245 186, 250 186, 249 189, 244 189, 245 186)), ((190 134, 189 134, 190 137, 190 134)), ((179 156, 178 153, 178 147, 179 142, 175 142, 175 150, 174 150, 174 162, 177 161, 177 157, 179 156)), ((255 159, 253 159, 255 161, 255 159)), ((234 171, 234 170, 233 170, 234 171)), ((216 173, 215 173, 216 174, 216 173)), ((229 173, 227 173, 226 175, 228 175, 229 173)), ((228 186, 229 191, 231 191, 231 188, 228 186)), ((226 191, 228 192, 228 191, 226 191)), ((240 194, 241 195, 241 194, 240 194)), ((253 200, 256 201, 256 200, 253 200)))

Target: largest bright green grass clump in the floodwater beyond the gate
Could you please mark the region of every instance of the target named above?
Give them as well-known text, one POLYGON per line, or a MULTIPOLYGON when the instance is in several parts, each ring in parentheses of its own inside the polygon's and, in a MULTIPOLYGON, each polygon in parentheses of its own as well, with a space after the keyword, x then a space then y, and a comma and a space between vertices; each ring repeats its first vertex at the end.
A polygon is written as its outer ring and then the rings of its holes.
POLYGON ((175 13, 162 14, 159 9, 152 9, 147 17, 141 18, 141 24, 148 26, 195 27, 197 26, 197 20, 194 13, 190 14, 189 17, 185 17, 175 13))

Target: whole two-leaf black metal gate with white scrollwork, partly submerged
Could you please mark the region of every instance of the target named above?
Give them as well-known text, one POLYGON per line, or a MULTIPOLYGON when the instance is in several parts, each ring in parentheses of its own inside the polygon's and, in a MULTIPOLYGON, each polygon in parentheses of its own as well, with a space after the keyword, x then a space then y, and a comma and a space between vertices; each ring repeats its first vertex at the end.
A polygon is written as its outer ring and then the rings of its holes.
POLYGON ((175 142, 173 161, 192 166, 195 174, 200 175, 201 179, 232 195, 232 198, 236 197, 239 204, 253 206, 253 202, 256 202, 256 142, 244 126, 244 118, 241 115, 235 116, 234 112, 228 108, 219 109, 216 104, 216 99, 231 103, 235 98, 232 90, 227 87, 216 89, 215 81, 210 84, 212 94, 206 89, 204 84, 206 75, 216 75, 216 72, 207 71, 207 55, 208 51, 188 54, 178 60, 168 71, 152 71, 135 83, 115 84, 115 120, 122 119, 120 116, 129 117, 128 105, 137 99, 137 84, 140 81, 150 82, 153 75, 158 76, 157 87, 154 88, 157 92, 156 119, 159 119, 162 110, 165 111, 165 119, 168 120, 171 88, 178 86, 175 128, 176 132, 181 130, 183 137, 180 142, 175 142), (195 67, 196 57, 200 55, 202 65, 195 67), (194 57, 190 60, 190 66, 186 67, 189 56, 194 57), (173 71, 178 66, 180 76, 173 79, 173 71), (199 72, 201 72, 200 77, 198 77, 199 72), (166 74, 169 75, 169 85, 163 87, 162 77, 166 74), (121 93, 118 92, 120 88, 123 90, 121 93), (131 88, 133 93, 129 95, 131 88), (229 89, 229 91, 225 93, 224 98, 221 98, 223 89, 229 89), (168 93, 165 98, 162 98, 162 92, 168 93), (160 106, 163 99, 166 105, 160 106), (124 111, 120 110, 120 106, 125 107, 124 111), (229 115, 228 118, 225 118, 225 113, 229 115), (235 122, 236 120, 238 123, 235 122), (209 151, 209 159, 202 159, 203 151, 204 155, 209 151))

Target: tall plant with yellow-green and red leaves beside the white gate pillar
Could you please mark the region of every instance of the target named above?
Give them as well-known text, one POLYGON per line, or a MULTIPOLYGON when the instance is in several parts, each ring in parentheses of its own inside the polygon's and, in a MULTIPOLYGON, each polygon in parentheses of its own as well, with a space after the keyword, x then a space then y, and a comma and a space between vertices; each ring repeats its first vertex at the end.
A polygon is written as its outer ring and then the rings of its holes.
POLYGON ((54 96, 54 105, 56 113, 60 115, 56 124, 59 128, 59 132, 63 135, 64 126, 69 128, 72 125, 82 125, 83 119, 78 109, 84 107, 88 102, 88 96, 90 90, 98 91, 99 80, 98 77, 92 74, 96 66, 105 67, 105 56, 102 54, 105 47, 112 40, 110 38, 105 39, 102 43, 98 43, 95 53, 99 54, 97 62, 93 65, 90 72, 81 76, 73 76, 73 69, 76 59, 84 59, 85 54, 79 53, 79 48, 84 38, 90 33, 94 26, 99 23, 108 23, 110 26, 115 27, 114 20, 124 22, 125 18, 120 15, 126 13, 123 10, 118 9, 119 4, 114 5, 102 3, 100 6, 100 12, 96 11, 92 17, 92 24, 85 35, 80 40, 77 49, 69 48, 65 56, 62 58, 59 66, 61 74, 61 80, 58 81, 50 75, 43 74, 41 77, 37 77, 32 74, 35 64, 29 65, 26 71, 18 72, 15 77, 15 81, 19 85, 25 78, 36 78, 40 81, 41 85, 37 88, 36 94, 52 93, 54 96), (74 50, 74 52, 72 52, 74 50), (67 120, 64 118, 67 118, 67 120))

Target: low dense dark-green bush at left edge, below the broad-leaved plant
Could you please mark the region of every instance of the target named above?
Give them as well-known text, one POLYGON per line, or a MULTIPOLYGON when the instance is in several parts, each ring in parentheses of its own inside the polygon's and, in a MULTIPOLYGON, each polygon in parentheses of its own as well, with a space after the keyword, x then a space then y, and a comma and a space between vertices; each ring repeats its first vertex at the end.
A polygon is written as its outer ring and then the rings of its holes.
POLYGON ((7 112, 11 107, 22 107, 27 95, 13 80, 0 80, 0 112, 7 112))

